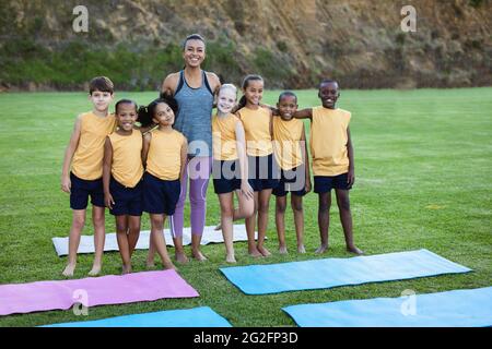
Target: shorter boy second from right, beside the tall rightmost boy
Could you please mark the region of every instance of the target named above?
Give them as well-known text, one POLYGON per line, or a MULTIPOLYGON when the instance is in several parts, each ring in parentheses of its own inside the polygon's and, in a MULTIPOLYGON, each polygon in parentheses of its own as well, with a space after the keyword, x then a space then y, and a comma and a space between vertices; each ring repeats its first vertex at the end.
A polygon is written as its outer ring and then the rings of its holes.
POLYGON ((297 96, 284 92, 277 104, 280 117, 273 118, 273 149, 281 168, 279 185, 273 189, 276 195, 276 226, 279 237, 279 252, 288 253, 285 244, 286 195, 291 193, 291 206, 294 213, 297 252, 305 253, 303 196, 311 191, 309 161, 306 149, 304 122, 293 119, 297 110, 297 96))

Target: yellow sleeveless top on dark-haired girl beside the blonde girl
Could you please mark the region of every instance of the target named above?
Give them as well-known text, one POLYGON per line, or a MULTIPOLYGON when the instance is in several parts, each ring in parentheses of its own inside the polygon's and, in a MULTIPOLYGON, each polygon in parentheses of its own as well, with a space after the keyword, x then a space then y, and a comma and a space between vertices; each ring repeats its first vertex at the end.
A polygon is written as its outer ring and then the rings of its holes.
POLYGON ((267 156, 273 152, 270 135, 270 110, 242 108, 239 111, 246 136, 246 153, 249 156, 267 156))

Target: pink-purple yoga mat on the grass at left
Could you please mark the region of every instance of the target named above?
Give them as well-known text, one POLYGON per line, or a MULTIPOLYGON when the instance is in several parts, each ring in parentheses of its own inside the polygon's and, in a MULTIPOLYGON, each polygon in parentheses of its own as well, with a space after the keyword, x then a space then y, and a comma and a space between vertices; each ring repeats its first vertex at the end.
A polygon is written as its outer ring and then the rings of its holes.
POLYGON ((0 285, 0 315, 85 306, 191 298, 198 292, 176 270, 94 278, 0 285))

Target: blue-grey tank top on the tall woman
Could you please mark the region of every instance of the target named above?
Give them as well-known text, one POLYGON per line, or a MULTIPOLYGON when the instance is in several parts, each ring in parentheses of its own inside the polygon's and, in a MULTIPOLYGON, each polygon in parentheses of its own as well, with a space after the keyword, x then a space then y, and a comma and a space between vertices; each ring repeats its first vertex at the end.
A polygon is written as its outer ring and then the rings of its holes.
POLYGON ((202 71, 201 86, 192 88, 181 70, 174 98, 179 106, 174 128, 188 140, 188 155, 211 156, 213 93, 206 72, 202 71))

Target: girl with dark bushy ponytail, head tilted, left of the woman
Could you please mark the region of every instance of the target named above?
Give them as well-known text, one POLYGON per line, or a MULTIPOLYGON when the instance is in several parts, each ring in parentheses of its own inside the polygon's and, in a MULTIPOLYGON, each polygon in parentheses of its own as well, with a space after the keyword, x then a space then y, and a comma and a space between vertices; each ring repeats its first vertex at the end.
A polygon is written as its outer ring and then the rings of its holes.
MULTIPOLYGON (((145 166, 143 210, 149 213, 151 219, 148 266, 153 265, 154 254, 157 252, 166 269, 175 266, 167 254, 164 222, 176 209, 188 156, 186 137, 173 129, 176 112, 177 104, 174 98, 164 96, 139 109, 139 119, 151 118, 159 124, 155 130, 144 135, 142 151, 145 166)), ((181 243, 176 238, 173 240, 175 246, 181 243)))

